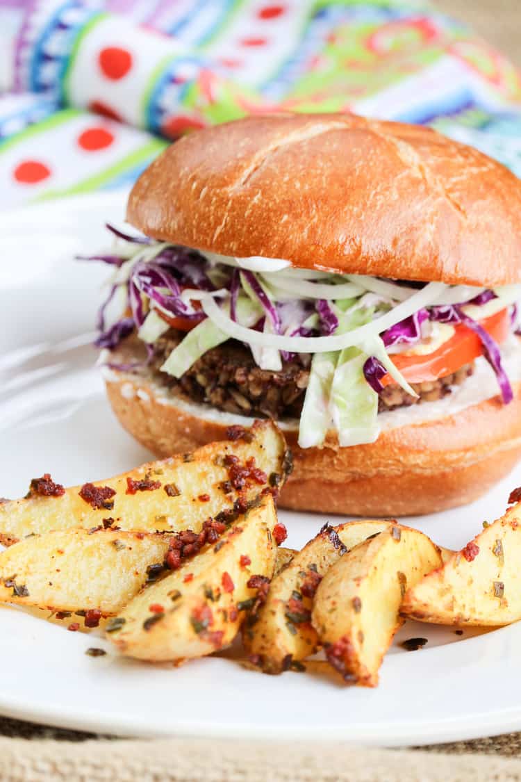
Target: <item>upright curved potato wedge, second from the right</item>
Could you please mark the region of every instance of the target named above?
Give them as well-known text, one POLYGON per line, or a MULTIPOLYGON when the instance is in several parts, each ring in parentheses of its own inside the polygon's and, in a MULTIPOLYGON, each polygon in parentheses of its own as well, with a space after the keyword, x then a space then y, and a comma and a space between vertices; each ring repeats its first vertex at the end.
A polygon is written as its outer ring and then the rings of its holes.
POLYGON ((316 590, 312 624, 344 680, 376 687, 384 654, 403 622, 399 610, 405 588, 441 564, 430 538, 395 526, 330 567, 316 590))

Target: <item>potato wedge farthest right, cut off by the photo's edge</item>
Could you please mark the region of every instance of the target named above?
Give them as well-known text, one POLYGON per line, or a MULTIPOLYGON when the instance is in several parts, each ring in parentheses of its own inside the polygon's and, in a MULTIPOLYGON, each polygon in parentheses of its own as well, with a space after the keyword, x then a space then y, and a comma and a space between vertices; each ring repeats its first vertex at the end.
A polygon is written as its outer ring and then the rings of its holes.
POLYGON ((401 613, 442 625, 501 626, 521 619, 521 504, 487 526, 405 593, 401 613))

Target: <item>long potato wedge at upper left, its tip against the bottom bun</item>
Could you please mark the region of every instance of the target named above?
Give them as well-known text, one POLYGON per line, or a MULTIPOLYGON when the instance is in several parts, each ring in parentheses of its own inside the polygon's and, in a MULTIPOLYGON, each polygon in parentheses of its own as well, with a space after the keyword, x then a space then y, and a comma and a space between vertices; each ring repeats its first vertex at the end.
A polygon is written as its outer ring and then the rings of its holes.
MULTIPOLYGON (((241 433, 236 428, 231 435, 237 431, 241 433)), ((144 532, 198 530, 205 519, 231 508, 237 499, 230 470, 235 486, 245 481, 246 499, 255 497, 266 482, 282 486, 291 471, 291 454, 272 421, 255 421, 251 430, 242 431, 244 436, 235 442, 210 443, 192 454, 150 462, 116 478, 72 486, 61 496, 41 496, 31 482, 30 496, 0 504, 0 543, 10 545, 55 529, 91 529, 104 521, 144 532), (227 455, 236 456, 239 465, 255 459, 262 472, 249 478, 234 475, 234 465, 224 463, 227 455), (105 492, 100 491, 103 487, 105 492)))

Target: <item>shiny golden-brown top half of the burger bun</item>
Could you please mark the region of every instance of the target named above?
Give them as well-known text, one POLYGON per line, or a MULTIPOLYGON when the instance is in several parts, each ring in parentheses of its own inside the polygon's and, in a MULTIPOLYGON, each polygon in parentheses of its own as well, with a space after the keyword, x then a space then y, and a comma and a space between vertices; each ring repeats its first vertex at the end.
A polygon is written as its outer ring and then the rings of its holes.
POLYGON ((348 114, 195 131, 137 180, 127 220, 222 255, 351 274, 521 282, 521 181, 426 127, 348 114))

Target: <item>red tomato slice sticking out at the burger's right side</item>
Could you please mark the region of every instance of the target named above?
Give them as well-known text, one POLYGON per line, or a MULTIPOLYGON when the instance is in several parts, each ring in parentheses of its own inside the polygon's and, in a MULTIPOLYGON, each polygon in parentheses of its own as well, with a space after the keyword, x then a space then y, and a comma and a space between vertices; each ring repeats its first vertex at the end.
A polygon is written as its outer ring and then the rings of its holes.
MULTIPOLYGON (((509 310, 500 310, 490 317, 480 321, 480 325, 491 335, 497 343, 504 342, 510 331, 509 310)), ((481 340, 475 332, 467 326, 459 324, 455 326, 455 333, 434 353, 425 356, 405 356, 397 353, 392 356, 393 364, 401 371, 401 374, 409 382, 424 382, 443 378, 451 375, 463 364, 469 364, 475 358, 481 356, 483 347, 481 340)), ((380 381, 383 386, 394 383, 391 375, 384 375, 380 381)))

